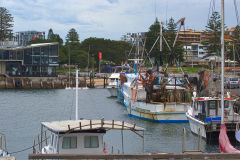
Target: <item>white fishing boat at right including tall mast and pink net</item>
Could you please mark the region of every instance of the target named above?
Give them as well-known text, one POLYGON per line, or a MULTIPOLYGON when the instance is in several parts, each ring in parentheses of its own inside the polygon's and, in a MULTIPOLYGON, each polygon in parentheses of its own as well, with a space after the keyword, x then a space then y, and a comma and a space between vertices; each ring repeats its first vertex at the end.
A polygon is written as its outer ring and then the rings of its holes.
POLYGON ((235 139, 240 115, 234 111, 237 99, 231 97, 229 92, 227 96, 224 95, 224 0, 221 0, 221 3, 221 96, 197 97, 197 93, 194 92, 192 105, 188 108, 186 116, 193 133, 197 134, 200 130, 200 136, 207 142, 219 138, 222 152, 239 153, 229 141, 235 139))

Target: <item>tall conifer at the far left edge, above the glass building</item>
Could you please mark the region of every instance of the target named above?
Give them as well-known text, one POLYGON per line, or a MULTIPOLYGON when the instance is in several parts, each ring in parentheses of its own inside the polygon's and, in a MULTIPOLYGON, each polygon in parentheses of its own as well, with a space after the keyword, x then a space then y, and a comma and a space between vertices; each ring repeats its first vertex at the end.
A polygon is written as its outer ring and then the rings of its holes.
POLYGON ((0 41, 12 37, 13 17, 4 7, 0 7, 0 41))

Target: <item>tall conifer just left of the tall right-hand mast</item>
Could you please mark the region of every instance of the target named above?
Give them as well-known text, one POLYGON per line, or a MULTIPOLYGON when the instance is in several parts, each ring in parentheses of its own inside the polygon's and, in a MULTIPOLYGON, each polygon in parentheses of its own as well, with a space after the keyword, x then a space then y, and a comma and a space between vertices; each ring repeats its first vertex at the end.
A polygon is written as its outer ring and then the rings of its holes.
POLYGON ((221 51, 221 17, 218 12, 213 12, 206 26, 206 40, 203 42, 208 46, 207 56, 220 55, 221 51))

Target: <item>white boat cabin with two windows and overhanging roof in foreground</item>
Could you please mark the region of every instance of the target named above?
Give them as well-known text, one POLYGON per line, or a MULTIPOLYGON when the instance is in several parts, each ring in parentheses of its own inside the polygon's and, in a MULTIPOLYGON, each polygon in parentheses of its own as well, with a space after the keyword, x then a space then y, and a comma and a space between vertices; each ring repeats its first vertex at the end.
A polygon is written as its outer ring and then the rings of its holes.
MULTIPOLYGON (((41 123, 41 142, 44 128, 50 131, 50 143, 41 146, 43 154, 103 154, 103 135, 108 130, 144 131, 143 128, 120 121, 66 120, 41 123)), ((41 143, 45 144, 44 142, 41 143)))

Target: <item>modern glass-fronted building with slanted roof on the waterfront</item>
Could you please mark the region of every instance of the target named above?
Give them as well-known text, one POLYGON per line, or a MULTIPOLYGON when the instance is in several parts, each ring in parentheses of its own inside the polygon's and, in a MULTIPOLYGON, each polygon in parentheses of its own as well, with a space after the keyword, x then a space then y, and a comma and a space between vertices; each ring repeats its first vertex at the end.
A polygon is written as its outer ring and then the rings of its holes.
POLYGON ((17 77, 56 76, 57 42, 0 48, 0 74, 17 77))

